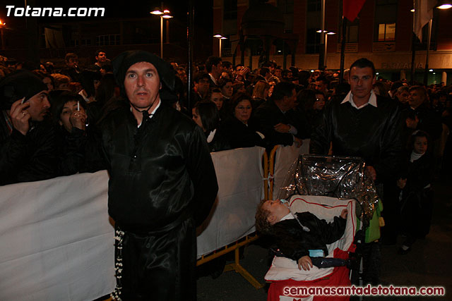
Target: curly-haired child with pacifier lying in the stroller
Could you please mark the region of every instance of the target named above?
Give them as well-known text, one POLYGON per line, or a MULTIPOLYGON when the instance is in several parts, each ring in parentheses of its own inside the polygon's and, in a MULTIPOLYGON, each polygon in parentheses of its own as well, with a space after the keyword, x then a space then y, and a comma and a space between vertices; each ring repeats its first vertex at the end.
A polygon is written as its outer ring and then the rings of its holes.
POLYGON ((275 254, 295 260, 300 270, 309 271, 313 264, 318 268, 345 266, 348 260, 326 258, 326 245, 344 234, 347 213, 343 209, 340 217, 327 223, 307 211, 292 213, 284 199, 262 200, 256 212, 256 229, 275 238, 275 254))

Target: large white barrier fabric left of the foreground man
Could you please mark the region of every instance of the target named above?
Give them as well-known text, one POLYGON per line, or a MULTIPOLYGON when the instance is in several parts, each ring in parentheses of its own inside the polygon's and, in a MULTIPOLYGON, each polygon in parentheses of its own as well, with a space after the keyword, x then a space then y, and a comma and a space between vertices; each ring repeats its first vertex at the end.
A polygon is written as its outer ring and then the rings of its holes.
POLYGON ((94 300, 114 280, 106 171, 0 188, 0 300, 94 300))

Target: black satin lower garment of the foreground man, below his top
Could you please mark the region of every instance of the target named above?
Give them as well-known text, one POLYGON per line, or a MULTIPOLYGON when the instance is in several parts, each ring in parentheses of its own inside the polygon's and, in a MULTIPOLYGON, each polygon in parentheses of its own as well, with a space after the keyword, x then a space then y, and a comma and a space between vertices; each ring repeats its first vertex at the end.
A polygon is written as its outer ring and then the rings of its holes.
POLYGON ((122 263, 121 300, 196 300, 193 220, 157 235, 124 231, 120 247, 115 253, 122 263))

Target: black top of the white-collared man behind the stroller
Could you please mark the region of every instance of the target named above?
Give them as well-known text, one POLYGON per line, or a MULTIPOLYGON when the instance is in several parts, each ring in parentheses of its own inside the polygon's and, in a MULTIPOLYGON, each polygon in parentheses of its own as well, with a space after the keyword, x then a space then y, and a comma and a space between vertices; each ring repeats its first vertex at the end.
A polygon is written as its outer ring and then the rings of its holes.
POLYGON ((334 99, 311 135, 311 154, 359 156, 376 171, 376 180, 396 180, 402 156, 402 123, 397 103, 377 96, 377 106, 355 109, 350 102, 334 99))

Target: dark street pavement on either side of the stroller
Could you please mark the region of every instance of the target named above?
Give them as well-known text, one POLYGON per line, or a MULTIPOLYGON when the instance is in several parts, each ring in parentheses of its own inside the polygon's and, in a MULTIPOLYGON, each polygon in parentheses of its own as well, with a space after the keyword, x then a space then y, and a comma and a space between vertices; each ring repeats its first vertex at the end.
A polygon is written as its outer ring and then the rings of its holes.
MULTIPOLYGON (((418 240, 412 252, 398 255, 398 245, 381 246, 383 285, 444 286, 446 297, 400 297, 400 300, 452 300, 452 180, 442 178, 434 184, 435 202, 432 228, 425 240, 418 240)), ((256 242, 246 247, 242 266, 259 282, 268 270, 268 251, 256 242)), ((256 290, 234 271, 213 280, 198 278, 198 300, 266 300, 266 288, 256 290)), ((399 300, 396 297, 372 297, 370 300, 399 300)))

